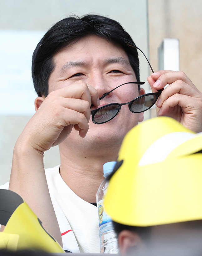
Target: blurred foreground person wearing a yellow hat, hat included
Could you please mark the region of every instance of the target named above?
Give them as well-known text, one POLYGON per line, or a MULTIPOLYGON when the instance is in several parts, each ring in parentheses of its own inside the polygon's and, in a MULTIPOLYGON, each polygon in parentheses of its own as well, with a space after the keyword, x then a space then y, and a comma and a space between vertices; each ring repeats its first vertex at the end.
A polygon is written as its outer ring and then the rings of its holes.
POLYGON ((104 201, 122 255, 201 255, 201 150, 202 133, 169 117, 128 132, 104 201))

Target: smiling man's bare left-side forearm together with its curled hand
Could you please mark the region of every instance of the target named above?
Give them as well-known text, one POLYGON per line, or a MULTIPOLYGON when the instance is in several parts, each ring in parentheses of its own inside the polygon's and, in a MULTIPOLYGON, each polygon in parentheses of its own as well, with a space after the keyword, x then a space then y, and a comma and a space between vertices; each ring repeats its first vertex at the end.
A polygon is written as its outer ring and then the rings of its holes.
POLYGON ((88 131, 91 103, 99 104, 92 86, 77 81, 35 101, 36 113, 22 131, 13 152, 9 189, 17 192, 61 245, 62 238, 44 172, 43 153, 61 143, 74 127, 88 131), (50 224, 51 223, 51 224, 50 224))

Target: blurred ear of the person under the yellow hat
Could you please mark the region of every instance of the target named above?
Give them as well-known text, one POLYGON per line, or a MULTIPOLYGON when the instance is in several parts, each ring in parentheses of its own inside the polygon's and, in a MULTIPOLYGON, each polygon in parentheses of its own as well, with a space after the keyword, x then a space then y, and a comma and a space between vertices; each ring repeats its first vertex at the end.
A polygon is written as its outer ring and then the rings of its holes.
POLYGON ((119 248, 122 256, 127 255, 131 249, 139 249, 143 242, 136 232, 122 230, 118 236, 119 248))

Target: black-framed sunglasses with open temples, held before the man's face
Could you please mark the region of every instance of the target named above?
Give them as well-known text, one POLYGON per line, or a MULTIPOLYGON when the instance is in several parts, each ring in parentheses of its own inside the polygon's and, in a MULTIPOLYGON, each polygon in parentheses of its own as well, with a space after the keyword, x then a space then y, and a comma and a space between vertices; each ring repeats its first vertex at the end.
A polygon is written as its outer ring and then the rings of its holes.
MULTIPOLYGON (((131 44, 130 42, 126 42, 129 46, 134 47, 138 50, 140 50, 136 45, 131 44)), ((142 50, 140 50, 140 52, 142 52, 142 54, 145 56, 145 54, 143 53, 142 50)), ((154 73, 149 60, 147 59, 147 57, 145 56, 150 69, 152 71, 152 73, 154 73)), ((128 82, 125 84, 145 84, 145 82, 128 82)), ((121 84, 119 86, 117 86, 116 88, 112 89, 111 91, 105 93, 102 97, 100 97, 100 100, 102 100, 104 97, 106 97, 107 95, 109 95, 112 91, 116 90, 117 88, 119 88, 122 85, 125 84, 121 84)), ((160 94, 161 94, 162 90, 158 90, 158 92, 154 92, 154 93, 147 93, 141 96, 136 97, 135 99, 127 102, 127 103, 111 103, 111 104, 107 104, 105 106, 102 106, 98 109, 95 110, 91 110, 91 115, 92 115, 92 121, 95 124, 104 124, 106 122, 109 122, 110 120, 112 120, 116 115, 118 115, 119 111, 121 110, 121 106, 123 105, 128 105, 129 110, 132 113, 141 113, 144 112, 146 110, 149 110, 158 100, 160 94)), ((91 105, 92 107, 93 105, 91 105)))

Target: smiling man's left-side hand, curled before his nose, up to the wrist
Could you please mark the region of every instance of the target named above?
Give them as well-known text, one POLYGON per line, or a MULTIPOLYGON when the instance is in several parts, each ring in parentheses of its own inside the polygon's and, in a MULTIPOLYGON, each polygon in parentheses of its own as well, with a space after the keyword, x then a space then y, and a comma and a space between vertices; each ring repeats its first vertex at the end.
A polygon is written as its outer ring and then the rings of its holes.
POLYGON ((99 104, 98 93, 83 81, 52 91, 45 99, 38 97, 35 100, 37 111, 18 141, 23 139, 43 153, 64 141, 73 127, 81 137, 85 137, 89 128, 91 104, 99 104))

